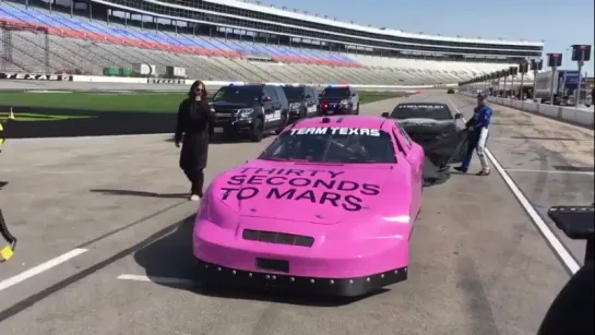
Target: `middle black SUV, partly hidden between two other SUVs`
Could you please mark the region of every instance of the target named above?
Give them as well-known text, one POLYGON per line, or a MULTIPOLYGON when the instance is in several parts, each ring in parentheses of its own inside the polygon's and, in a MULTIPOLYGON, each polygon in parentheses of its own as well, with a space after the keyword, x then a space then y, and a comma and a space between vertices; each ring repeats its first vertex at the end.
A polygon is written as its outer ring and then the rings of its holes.
POLYGON ((289 100, 289 122, 318 116, 318 93, 314 87, 300 84, 282 87, 289 100))

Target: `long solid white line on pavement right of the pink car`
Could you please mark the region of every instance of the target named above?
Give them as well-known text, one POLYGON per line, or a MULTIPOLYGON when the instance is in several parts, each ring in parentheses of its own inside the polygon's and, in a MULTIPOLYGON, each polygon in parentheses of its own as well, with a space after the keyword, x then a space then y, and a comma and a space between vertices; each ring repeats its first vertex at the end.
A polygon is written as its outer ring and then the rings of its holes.
MULTIPOLYGON (((456 112, 460 112, 459 108, 456 108, 456 106, 453 104, 453 101, 450 98, 447 97, 447 100, 451 104, 451 106, 454 108, 456 112)), ((463 121, 466 122, 464 119, 463 121)), ((496 159, 496 157, 487 147, 486 147, 486 155, 488 156, 489 160, 491 161, 491 164, 493 165, 498 174, 500 174, 500 176, 502 177, 502 179, 504 180, 504 182, 511 190, 512 194, 514 194, 514 198, 516 198, 519 203, 521 203, 521 206, 523 206, 527 215, 531 217, 534 226, 542 232, 542 235, 544 236, 548 244, 551 247, 554 252, 556 252, 556 254, 560 258, 560 260, 563 262, 566 267, 572 274, 576 273, 581 268, 576 260, 574 260, 574 258, 566 249, 562 242, 560 242, 560 240, 554 234, 554 231, 551 231, 549 226, 544 222, 542 216, 539 216, 537 211, 535 211, 531 202, 526 199, 526 196, 523 194, 521 189, 516 186, 514 180, 509 176, 509 174, 507 174, 504 168, 500 165, 498 159, 496 159)))

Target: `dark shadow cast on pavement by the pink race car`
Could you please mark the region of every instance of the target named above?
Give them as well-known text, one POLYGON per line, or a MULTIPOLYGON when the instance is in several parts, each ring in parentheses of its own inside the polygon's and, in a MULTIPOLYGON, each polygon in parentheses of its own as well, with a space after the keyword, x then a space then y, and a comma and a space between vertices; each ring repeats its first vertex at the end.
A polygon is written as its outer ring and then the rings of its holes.
MULTIPOLYGON (((192 228, 194 225, 195 215, 192 215, 181 222, 177 228, 147 244, 143 249, 134 252, 134 260, 139 265, 144 267, 145 275, 154 278, 178 278, 182 280, 191 280, 194 285, 179 285, 155 283, 177 289, 187 289, 189 291, 224 299, 246 299, 271 301, 289 304, 313 306, 313 307, 337 307, 357 302, 366 297, 337 299, 325 297, 307 297, 304 295, 290 295, 286 292, 272 292, 255 289, 230 288, 230 287, 212 287, 209 288, 201 285, 201 280, 195 272, 195 260, 192 255, 192 228)), ((156 280, 157 282, 157 280, 156 280)), ((380 290, 367 297, 388 291, 380 290)))

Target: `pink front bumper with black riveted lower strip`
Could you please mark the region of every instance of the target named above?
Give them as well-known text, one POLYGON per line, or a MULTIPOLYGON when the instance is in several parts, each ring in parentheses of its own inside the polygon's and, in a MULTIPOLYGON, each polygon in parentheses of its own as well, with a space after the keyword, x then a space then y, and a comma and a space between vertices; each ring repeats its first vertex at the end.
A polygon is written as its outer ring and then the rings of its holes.
POLYGON ((200 278, 206 282, 355 297, 407 279, 407 242, 373 244, 355 242, 333 254, 316 243, 307 248, 243 240, 236 230, 199 220, 192 248, 200 278))

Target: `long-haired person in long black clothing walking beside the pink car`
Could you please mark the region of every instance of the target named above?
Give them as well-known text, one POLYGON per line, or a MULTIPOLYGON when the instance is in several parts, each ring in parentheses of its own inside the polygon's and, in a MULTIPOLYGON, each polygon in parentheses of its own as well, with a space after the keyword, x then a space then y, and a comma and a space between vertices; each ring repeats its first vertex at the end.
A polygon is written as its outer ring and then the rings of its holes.
POLYGON ((175 135, 177 147, 180 147, 182 141, 180 168, 192 184, 192 201, 198 201, 203 195, 203 169, 206 167, 209 137, 214 121, 215 112, 206 101, 206 87, 201 81, 195 81, 190 87, 188 98, 181 101, 178 109, 175 135))

